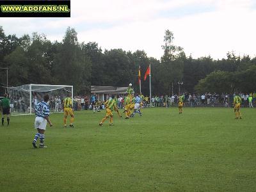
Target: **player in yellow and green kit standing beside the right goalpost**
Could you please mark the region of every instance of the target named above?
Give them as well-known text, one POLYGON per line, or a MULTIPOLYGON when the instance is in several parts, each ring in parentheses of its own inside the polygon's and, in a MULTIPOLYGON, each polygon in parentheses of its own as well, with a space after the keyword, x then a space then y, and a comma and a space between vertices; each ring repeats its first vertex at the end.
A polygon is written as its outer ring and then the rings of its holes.
POLYGON ((73 104, 72 104, 72 99, 71 99, 71 94, 68 95, 63 100, 63 108, 64 108, 64 127, 67 127, 67 117, 68 115, 71 117, 70 118, 70 127, 74 127, 73 122, 74 122, 74 111, 73 111, 73 104))

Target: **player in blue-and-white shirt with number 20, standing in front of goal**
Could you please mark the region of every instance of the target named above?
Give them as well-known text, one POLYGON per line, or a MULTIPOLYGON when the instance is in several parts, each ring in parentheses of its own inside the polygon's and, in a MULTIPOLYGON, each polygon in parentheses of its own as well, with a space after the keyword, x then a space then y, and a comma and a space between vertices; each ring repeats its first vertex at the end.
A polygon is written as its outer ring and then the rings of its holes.
POLYGON ((47 102, 49 101, 49 95, 44 96, 44 101, 38 102, 35 106, 35 129, 37 129, 37 133, 35 134, 35 138, 32 142, 33 147, 37 148, 36 141, 38 138, 40 139, 40 148, 46 147, 44 145, 44 132, 46 129, 47 122, 49 123, 50 127, 52 123, 49 119, 50 109, 47 102))

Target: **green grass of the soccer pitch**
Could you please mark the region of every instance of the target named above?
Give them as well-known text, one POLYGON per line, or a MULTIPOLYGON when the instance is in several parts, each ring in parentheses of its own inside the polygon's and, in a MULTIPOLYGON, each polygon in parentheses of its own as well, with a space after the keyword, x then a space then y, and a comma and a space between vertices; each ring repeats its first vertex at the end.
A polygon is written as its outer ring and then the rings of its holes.
POLYGON ((0 125, 0 191, 256 191, 256 111, 143 109, 129 120, 52 114, 48 148, 34 149, 34 116, 0 125))

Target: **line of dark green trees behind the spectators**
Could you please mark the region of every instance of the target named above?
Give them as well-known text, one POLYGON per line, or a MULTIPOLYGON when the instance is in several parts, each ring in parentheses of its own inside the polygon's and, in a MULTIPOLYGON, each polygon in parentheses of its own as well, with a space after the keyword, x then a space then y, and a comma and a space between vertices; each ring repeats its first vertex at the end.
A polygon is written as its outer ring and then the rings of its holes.
MULTIPOLYGON (((149 94, 149 78, 143 80, 151 65, 153 95, 182 92, 254 92, 256 58, 236 56, 213 60, 211 56, 194 59, 182 47, 173 45, 174 35, 166 30, 161 60, 148 57, 145 51, 102 50, 96 42, 78 42, 74 28, 67 28, 61 42, 51 42, 43 34, 6 35, 0 27, 0 67, 8 67, 8 86, 22 84, 74 85, 76 94, 90 92, 90 85, 128 86, 149 94)), ((0 86, 6 86, 6 72, 0 69, 0 86)), ((0 89, 3 92, 3 88, 0 89)))

